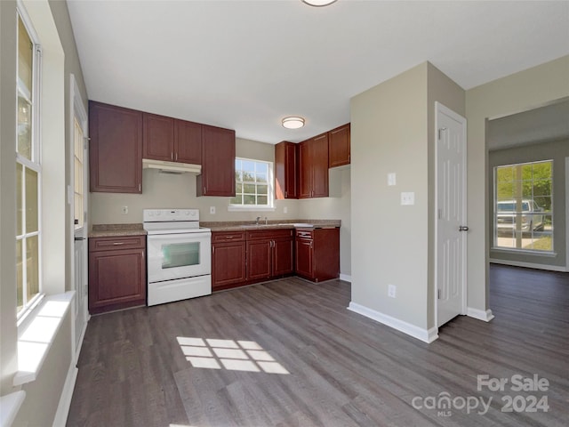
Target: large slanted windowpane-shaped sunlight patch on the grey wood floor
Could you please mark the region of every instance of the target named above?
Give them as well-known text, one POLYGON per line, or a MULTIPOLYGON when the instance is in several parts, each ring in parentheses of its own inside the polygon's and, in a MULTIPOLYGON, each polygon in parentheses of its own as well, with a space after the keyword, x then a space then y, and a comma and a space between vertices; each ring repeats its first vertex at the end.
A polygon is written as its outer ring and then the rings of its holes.
POLYGON ((188 336, 176 338, 192 367, 227 369, 229 371, 290 374, 267 350, 254 341, 203 339, 188 336))

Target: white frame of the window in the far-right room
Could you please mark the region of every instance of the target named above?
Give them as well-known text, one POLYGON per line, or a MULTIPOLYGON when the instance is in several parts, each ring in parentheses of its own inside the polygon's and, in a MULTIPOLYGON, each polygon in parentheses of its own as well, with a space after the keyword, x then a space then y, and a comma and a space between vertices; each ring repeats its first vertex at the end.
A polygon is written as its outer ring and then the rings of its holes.
MULTIPOLYGON (((553 199, 553 175, 554 175, 554 161, 553 159, 549 158, 549 159, 543 159, 543 160, 534 160, 531 162, 521 162, 521 163, 514 163, 511 165, 497 165, 494 166, 493 168, 493 250, 497 250, 497 251, 501 251, 501 252, 511 252, 511 253, 523 253, 523 254, 535 254, 535 255, 555 255, 555 246, 554 246, 554 233, 553 230, 555 230, 555 221, 554 221, 554 216, 555 216, 555 206, 554 206, 554 199, 553 199), (523 248, 523 247, 511 247, 511 246, 499 246, 498 245, 498 169, 499 168, 503 168, 503 167, 514 167, 514 166, 519 166, 519 165, 534 165, 534 164, 539 164, 539 163, 547 163, 549 162, 551 164, 551 192, 549 194, 549 197, 551 198, 551 210, 550 210, 550 217, 551 217, 551 227, 552 227, 552 232, 551 232, 551 249, 550 250, 540 250, 540 249, 533 249, 533 248, 523 248)), ((532 179, 532 189, 533 189, 533 180, 532 179)), ((523 198, 529 198, 532 199, 534 198, 534 196, 532 195, 531 197, 523 197, 523 198)), ((517 214, 516 212, 514 212, 514 214, 517 214)), ((545 221, 545 220, 542 220, 545 221)), ((530 235, 533 238, 533 231, 534 230, 529 230, 530 235)), ((513 237, 512 237, 513 238, 513 237)))

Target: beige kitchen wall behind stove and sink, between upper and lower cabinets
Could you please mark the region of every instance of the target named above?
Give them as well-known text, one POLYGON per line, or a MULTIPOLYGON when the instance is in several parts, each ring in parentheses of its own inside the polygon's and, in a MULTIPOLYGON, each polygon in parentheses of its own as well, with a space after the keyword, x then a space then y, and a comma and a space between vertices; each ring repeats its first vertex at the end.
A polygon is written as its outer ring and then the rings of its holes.
MULTIPOLYGON (((275 161, 272 144, 236 139, 236 156, 275 161)), ((255 221, 257 216, 269 221, 292 219, 341 220, 341 273, 350 274, 350 182, 349 167, 331 169, 330 195, 310 200, 276 200, 274 212, 228 212, 230 197, 196 197, 196 175, 173 175, 145 169, 142 172, 142 194, 91 193, 92 224, 142 222, 142 209, 192 207, 200 211, 202 221, 255 221), (128 214, 122 207, 128 206, 128 214), (215 206, 216 214, 210 214, 215 206), (287 213, 284 213, 284 207, 287 213)))

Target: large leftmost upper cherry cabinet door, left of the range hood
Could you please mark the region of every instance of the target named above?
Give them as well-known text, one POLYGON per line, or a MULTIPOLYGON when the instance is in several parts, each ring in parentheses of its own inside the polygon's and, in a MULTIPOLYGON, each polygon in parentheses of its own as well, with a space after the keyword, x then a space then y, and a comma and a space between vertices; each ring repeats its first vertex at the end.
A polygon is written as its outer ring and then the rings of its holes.
POLYGON ((91 191, 142 192, 142 113, 89 102, 91 191))

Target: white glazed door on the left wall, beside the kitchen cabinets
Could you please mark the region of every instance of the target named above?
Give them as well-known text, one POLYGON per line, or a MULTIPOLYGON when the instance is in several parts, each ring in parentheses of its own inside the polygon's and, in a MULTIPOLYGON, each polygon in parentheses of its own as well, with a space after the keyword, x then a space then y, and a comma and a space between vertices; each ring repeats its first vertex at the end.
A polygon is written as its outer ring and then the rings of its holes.
POLYGON ((71 134, 73 149, 70 155, 71 179, 69 202, 71 218, 73 219, 73 283, 76 291, 75 299, 75 344, 78 351, 83 342, 87 326, 88 293, 87 293, 87 114, 81 100, 81 94, 76 86, 75 78, 71 78, 71 102, 73 105, 71 117, 71 134))

